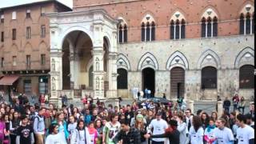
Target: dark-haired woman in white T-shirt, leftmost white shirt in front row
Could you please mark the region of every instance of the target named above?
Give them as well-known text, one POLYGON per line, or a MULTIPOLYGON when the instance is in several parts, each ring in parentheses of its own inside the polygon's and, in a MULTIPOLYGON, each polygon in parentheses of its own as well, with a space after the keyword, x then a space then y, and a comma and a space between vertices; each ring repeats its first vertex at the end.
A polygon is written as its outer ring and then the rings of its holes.
POLYGON ((58 124, 52 123, 49 126, 49 135, 46 137, 46 144, 66 144, 66 139, 62 138, 62 135, 58 133, 58 124))

